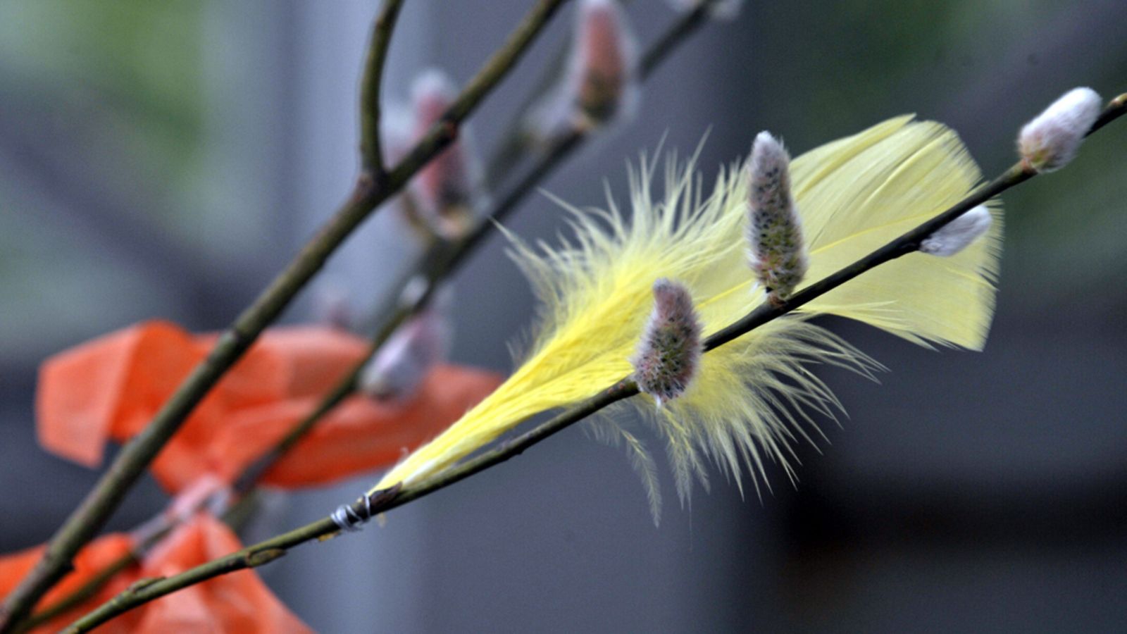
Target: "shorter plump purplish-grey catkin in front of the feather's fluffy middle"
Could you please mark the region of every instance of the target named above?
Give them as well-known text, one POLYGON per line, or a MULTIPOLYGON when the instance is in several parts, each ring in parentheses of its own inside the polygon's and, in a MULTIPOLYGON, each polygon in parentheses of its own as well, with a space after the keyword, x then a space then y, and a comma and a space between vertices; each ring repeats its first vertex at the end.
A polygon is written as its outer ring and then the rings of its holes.
POLYGON ((689 290, 672 280, 654 282, 654 310, 630 362, 638 389, 660 407, 684 394, 700 367, 701 324, 689 290))

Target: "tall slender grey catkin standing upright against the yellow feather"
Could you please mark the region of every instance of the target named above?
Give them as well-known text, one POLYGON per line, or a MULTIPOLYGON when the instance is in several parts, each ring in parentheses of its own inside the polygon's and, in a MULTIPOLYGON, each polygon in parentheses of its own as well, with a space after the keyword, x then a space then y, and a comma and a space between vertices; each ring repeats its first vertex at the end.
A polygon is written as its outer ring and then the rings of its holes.
POLYGON ((769 132, 760 132, 747 165, 747 257, 772 300, 790 297, 808 262, 798 208, 790 192, 790 156, 769 132))

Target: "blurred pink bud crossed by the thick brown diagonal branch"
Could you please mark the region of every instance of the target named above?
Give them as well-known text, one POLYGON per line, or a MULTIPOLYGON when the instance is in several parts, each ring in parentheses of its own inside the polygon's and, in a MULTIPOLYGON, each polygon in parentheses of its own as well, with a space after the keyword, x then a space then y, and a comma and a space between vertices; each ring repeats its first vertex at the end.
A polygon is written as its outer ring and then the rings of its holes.
MULTIPOLYGON (((411 103, 415 111, 414 140, 423 139, 458 96, 458 88, 443 72, 428 70, 415 80, 411 103)), ((463 132, 426 165, 411 180, 415 212, 437 235, 446 239, 464 236, 474 221, 474 199, 479 166, 463 132)))

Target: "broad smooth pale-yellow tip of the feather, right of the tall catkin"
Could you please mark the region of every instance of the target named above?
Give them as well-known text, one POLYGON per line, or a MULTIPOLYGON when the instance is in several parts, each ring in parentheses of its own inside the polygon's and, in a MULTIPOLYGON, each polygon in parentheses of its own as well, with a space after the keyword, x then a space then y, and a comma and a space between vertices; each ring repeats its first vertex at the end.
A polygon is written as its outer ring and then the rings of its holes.
MULTIPOLYGON (((795 160, 813 282, 961 200, 982 178, 951 130, 898 117, 795 160)), ((806 306, 915 343, 982 350, 994 312, 1001 213, 985 239, 949 258, 911 254, 806 306)))

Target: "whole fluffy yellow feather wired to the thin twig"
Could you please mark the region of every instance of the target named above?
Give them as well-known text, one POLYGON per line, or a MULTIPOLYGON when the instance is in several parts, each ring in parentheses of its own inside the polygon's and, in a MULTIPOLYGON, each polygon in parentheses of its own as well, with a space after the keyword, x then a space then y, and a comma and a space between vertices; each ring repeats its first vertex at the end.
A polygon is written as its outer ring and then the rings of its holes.
MULTIPOLYGON (((734 167, 701 197, 693 161, 667 164, 665 192, 650 193, 654 165, 631 171, 631 220, 610 210, 564 203, 575 231, 560 247, 515 237, 514 256, 541 301, 538 336, 524 363, 492 395, 389 472, 375 488, 434 475, 530 416, 591 396, 631 371, 631 355, 653 302, 657 278, 685 284, 706 333, 765 300, 745 262, 747 180, 734 167)), ((979 179, 956 134, 911 117, 886 121, 797 158, 795 197, 810 249, 814 282, 943 211, 979 179)), ((997 217, 999 213, 995 212, 997 217)), ((1000 220, 1000 218, 995 218, 1000 220)), ((835 314, 909 341, 980 349, 993 312, 1001 222, 986 239, 939 258, 911 254, 864 273, 703 355, 686 393, 657 410, 630 399, 656 425, 684 502, 694 477, 707 484, 706 459, 740 482, 766 478, 765 464, 792 475, 797 437, 816 430, 807 411, 840 408, 805 363, 831 363, 869 375, 879 366, 808 318, 835 314)), ((801 287, 800 287, 801 288, 801 287)), ((596 423, 596 424, 606 424, 596 423)), ((613 423, 612 423, 613 424, 613 423)), ((640 442, 622 430, 636 464, 651 469, 640 442)), ((612 434, 613 435, 613 434, 612 434)), ((648 481, 654 482, 651 474, 648 481)), ((659 496, 650 492, 655 517, 659 496)))

